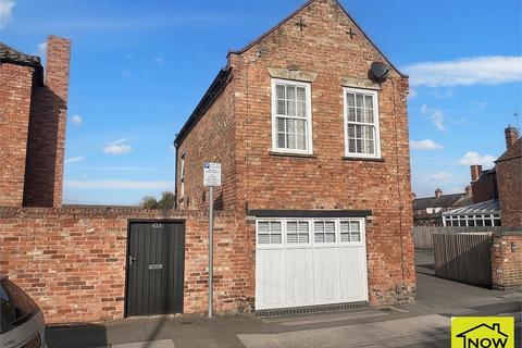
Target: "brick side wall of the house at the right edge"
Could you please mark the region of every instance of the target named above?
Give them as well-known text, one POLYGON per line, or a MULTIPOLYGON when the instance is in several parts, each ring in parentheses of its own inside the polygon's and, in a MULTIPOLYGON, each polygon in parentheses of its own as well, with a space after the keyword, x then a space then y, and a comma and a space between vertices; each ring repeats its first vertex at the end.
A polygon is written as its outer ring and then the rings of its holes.
POLYGON ((510 159, 497 162, 502 226, 522 227, 522 140, 510 149, 510 159))

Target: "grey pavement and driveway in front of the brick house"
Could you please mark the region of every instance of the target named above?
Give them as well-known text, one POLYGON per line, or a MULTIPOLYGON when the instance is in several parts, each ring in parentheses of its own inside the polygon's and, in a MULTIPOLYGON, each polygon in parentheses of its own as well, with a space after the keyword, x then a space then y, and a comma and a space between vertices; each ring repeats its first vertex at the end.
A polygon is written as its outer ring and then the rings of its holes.
MULTIPOLYGON (((453 315, 515 318, 521 343, 522 294, 434 276, 433 253, 415 256, 415 303, 385 309, 259 319, 195 315, 130 319, 47 330, 50 348, 449 347, 453 315)), ((515 347, 520 347, 515 346, 515 347)))

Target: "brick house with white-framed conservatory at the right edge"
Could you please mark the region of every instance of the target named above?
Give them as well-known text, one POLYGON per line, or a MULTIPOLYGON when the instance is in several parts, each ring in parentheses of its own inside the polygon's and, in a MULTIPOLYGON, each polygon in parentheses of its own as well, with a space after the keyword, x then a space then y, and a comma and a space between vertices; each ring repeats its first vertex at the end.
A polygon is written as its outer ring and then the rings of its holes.
POLYGON ((522 138, 505 129, 506 151, 495 166, 471 166, 473 203, 443 213, 445 226, 522 226, 522 138))

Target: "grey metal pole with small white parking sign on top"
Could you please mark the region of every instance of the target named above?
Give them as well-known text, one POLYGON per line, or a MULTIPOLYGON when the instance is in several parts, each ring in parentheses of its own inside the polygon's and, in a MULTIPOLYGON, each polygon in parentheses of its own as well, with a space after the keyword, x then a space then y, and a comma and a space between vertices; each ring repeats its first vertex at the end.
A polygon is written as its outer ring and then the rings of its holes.
POLYGON ((214 187, 221 186, 221 163, 206 162, 203 164, 203 186, 209 192, 209 318, 213 315, 214 302, 214 187))

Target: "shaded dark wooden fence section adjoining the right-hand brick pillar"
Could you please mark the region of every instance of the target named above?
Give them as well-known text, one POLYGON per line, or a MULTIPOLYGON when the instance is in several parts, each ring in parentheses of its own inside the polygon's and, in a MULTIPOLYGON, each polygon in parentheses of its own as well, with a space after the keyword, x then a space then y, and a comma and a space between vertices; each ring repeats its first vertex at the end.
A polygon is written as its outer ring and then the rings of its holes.
POLYGON ((435 275, 492 286, 492 233, 435 233, 435 275))

